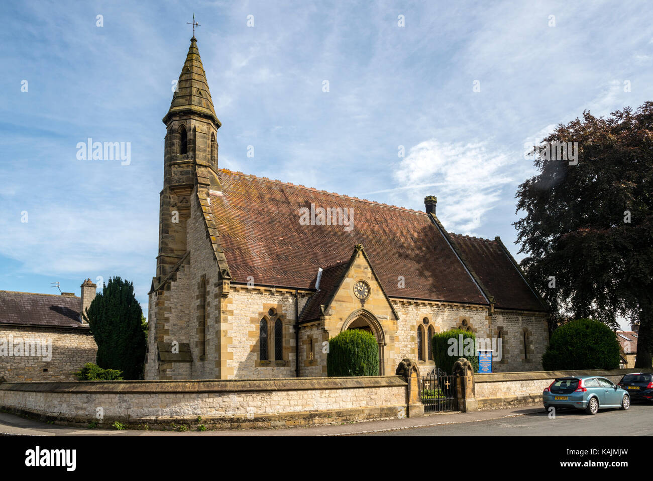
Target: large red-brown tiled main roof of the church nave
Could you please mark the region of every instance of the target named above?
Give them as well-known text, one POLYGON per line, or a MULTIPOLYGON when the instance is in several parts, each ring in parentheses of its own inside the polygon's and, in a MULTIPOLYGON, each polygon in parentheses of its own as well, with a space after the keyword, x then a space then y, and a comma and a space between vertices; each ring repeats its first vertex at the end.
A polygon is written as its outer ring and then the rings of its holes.
MULTIPOLYGON (((347 263, 354 246, 362 244, 390 297, 488 304, 446 233, 439 231, 426 212, 227 169, 217 172, 222 191, 210 193, 210 210, 219 233, 214 242, 229 263, 231 282, 246 284, 253 278, 259 285, 313 290, 319 267, 332 266, 325 269, 321 282, 328 283, 330 277, 335 282, 342 269, 338 262, 347 263), (314 209, 347 208, 353 212, 353 229, 302 225, 300 209, 310 209, 311 204, 314 209)), ((505 255, 494 256, 491 261, 500 263, 495 266, 498 276, 493 286, 503 282, 500 276, 506 271, 516 269, 505 255)), ((528 290, 515 273, 507 282, 521 282, 528 290)), ((535 306, 533 299, 522 297, 505 303, 545 310, 535 306)))

